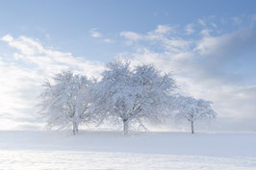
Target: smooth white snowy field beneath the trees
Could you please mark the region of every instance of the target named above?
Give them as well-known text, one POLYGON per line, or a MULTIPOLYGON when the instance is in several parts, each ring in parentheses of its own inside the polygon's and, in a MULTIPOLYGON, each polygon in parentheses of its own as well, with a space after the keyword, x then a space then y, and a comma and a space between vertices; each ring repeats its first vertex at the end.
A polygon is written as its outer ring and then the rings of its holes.
POLYGON ((0 169, 256 169, 256 133, 0 132, 0 169))

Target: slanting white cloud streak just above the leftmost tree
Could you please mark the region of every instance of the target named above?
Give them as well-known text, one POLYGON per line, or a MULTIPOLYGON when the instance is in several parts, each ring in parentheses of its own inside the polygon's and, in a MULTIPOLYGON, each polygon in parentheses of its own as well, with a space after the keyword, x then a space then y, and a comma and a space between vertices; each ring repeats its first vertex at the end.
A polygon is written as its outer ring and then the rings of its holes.
POLYGON ((13 54, 16 60, 30 63, 38 71, 42 71, 48 75, 52 75, 61 69, 71 69, 93 75, 93 72, 91 72, 91 70, 95 70, 93 67, 98 67, 101 64, 100 62, 91 62, 83 58, 73 57, 71 53, 45 48, 38 40, 26 36, 19 36, 16 39, 13 36, 9 38, 3 36, 2 40, 19 51, 13 54))

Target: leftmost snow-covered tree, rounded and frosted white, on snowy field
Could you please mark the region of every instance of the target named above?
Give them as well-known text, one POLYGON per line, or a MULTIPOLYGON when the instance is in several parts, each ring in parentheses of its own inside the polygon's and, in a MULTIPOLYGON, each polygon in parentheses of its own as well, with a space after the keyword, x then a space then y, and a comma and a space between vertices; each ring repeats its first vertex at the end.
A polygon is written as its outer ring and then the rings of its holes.
POLYGON ((77 134, 79 124, 90 121, 90 84, 86 77, 70 71, 56 74, 53 83, 44 83, 39 113, 49 128, 72 127, 73 134, 77 134))

